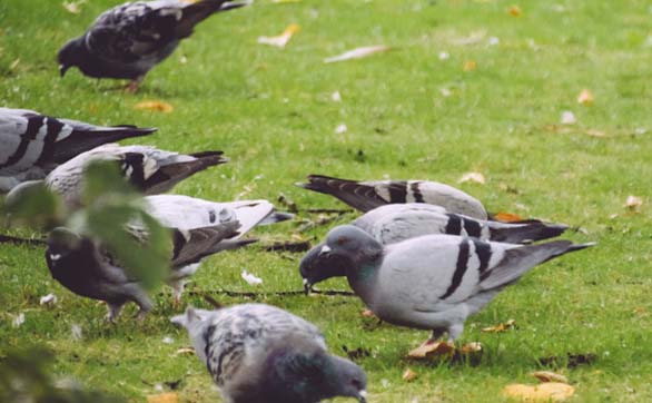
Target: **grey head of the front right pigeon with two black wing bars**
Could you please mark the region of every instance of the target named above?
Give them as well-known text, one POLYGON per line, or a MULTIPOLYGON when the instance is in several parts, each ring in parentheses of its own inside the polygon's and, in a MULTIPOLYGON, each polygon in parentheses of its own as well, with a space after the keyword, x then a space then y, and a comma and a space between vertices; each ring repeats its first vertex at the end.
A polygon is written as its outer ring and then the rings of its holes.
POLYGON ((383 245, 353 225, 340 225, 326 236, 320 256, 339 256, 347 261, 347 267, 356 267, 376 261, 383 255, 383 245))

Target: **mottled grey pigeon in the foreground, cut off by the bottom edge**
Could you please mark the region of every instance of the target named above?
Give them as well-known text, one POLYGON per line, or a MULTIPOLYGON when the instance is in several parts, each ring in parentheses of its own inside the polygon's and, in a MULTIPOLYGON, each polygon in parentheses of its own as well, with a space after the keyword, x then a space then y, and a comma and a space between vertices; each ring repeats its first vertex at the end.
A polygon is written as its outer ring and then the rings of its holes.
POLYGON ((218 311, 189 307, 171 318, 230 403, 315 403, 335 396, 366 402, 365 372, 327 352, 312 323, 265 304, 218 311))

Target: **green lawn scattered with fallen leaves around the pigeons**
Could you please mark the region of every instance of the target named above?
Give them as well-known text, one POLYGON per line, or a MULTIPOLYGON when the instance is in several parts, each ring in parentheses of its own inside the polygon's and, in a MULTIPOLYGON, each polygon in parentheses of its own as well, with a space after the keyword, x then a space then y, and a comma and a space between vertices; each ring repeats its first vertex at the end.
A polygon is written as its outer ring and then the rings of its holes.
MULTIPOLYGON (((481 171, 484 186, 458 186, 490 210, 567 223, 584 228, 569 238, 599 243, 535 269, 472 317, 462 341, 485 347, 473 364, 407 363, 404 354, 427 334, 376 326, 360 315, 357 298, 256 298, 316 323, 337 354, 344 355, 342 346, 368 350, 371 356, 358 363, 371 379, 371 402, 501 401, 506 384, 534 383, 528 373, 543 367, 540 357, 567 353, 596 356, 589 365, 552 366, 576 386, 575 401, 652 401, 651 210, 644 204, 634 214, 623 206, 629 195, 652 200, 648 2, 522 0, 522 14, 513 17, 507 9, 516 2, 498 0, 259 0, 198 27, 135 96, 78 71, 60 80, 58 48, 116 3, 86 2, 76 16, 59 1, 2 1, 0 106, 156 126, 159 132, 148 144, 179 151, 224 149, 231 157, 178 186, 179 194, 276 200, 283 193, 299 208, 342 207, 293 184, 310 173, 456 184, 464 173, 481 171), (302 31, 286 49, 256 43, 295 22, 302 31), (472 36, 480 39, 460 45, 472 36), (500 43, 488 45, 491 37, 500 43), (378 43, 395 50, 322 62, 378 43), (439 59, 443 51, 448 59, 439 59), (463 70, 468 60, 476 61, 475 70, 463 70), (577 104, 584 88, 594 94, 593 105, 577 104), (330 99, 336 90, 342 102, 330 99), (175 110, 134 109, 148 99, 175 110), (574 112, 576 125, 559 125, 564 110, 574 112), (348 131, 336 135, 339 124, 348 131), (516 330, 480 332, 510 318, 516 330), (407 366, 418 373, 412 383, 401 379, 407 366)), ((256 235, 281 238, 297 228, 283 224, 256 235)), ((303 235, 319 238, 326 230, 303 235)), ((251 291, 239 277, 243 268, 264 279, 255 291, 298 289, 299 258, 257 247, 224 253, 205 264, 189 289, 251 291)), ((342 279, 323 287, 347 288, 342 279)), ((227 304, 249 301, 216 297, 227 304)), ((185 301, 207 306, 200 297, 185 301)), ((56 353, 56 374, 134 402, 156 393, 154 384, 177 380, 184 402, 218 400, 205 367, 194 356, 175 355, 188 341, 168 323, 179 311, 169 292, 156 302, 145 324, 125 315, 117 326, 107 325, 102 306, 50 278, 42 250, 0 247, 0 353, 45 345, 56 353), (39 306, 39 297, 50 292, 59 303, 39 306), (20 312, 26 322, 13 328, 11 318, 20 312), (81 341, 71 338, 72 324, 81 326, 81 341), (162 343, 166 336, 174 342, 162 343)))

